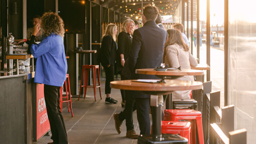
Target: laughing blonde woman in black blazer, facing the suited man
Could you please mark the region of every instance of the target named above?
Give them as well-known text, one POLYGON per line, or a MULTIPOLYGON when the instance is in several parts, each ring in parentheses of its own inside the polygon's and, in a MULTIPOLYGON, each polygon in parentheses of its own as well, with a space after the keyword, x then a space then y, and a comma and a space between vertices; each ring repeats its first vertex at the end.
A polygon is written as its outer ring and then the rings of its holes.
MULTIPOLYGON (((127 19, 124 21, 122 25, 122 32, 118 35, 118 49, 117 49, 117 56, 116 56, 116 72, 121 75, 121 80, 126 80, 124 76, 121 74, 124 63, 128 58, 130 47, 132 44, 132 34, 134 31, 134 21, 131 19, 127 19)), ((125 106, 125 91, 120 90, 122 95, 122 107, 125 106)))

